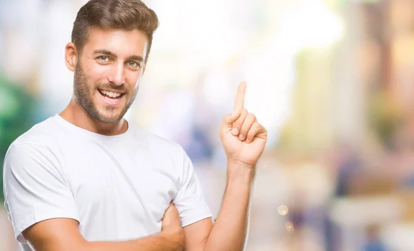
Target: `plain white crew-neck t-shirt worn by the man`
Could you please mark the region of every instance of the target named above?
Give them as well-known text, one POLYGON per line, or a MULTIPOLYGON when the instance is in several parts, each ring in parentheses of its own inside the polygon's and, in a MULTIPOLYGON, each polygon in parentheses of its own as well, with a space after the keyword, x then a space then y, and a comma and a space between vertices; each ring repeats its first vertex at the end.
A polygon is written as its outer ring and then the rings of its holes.
POLYGON ((46 219, 76 219, 87 241, 124 241, 159 232, 171 201, 183 227, 212 216, 181 146, 132 123, 104 136, 56 114, 10 145, 3 172, 23 250, 21 232, 46 219))

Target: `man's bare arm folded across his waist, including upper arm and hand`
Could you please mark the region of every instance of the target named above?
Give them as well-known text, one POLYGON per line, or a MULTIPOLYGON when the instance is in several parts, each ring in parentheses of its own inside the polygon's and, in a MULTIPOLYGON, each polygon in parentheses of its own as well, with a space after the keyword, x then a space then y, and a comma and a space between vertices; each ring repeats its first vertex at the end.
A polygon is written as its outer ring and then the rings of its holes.
POLYGON ((74 219, 48 219, 24 230, 23 236, 37 251, 178 251, 184 247, 184 232, 172 207, 164 216, 161 232, 141 239, 89 242, 78 228, 74 219))

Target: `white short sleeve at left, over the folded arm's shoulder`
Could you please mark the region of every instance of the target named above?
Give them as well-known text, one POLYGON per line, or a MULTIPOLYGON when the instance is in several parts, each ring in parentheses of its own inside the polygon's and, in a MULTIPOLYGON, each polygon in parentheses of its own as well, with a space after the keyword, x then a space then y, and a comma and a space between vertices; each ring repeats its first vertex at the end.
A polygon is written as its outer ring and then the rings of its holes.
POLYGON ((50 150, 30 144, 12 145, 3 168, 5 206, 17 241, 26 243, 21 232, 39 221, 79 221, 75 199, 50 150))

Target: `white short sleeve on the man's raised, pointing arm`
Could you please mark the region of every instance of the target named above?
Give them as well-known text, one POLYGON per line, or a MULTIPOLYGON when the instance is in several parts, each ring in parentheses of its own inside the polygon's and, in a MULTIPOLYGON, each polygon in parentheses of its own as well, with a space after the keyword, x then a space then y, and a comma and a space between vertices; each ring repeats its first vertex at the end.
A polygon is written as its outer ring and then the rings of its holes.
POLYGON ((202 219, 212 217, 213 214, 204 199, 193 163, 184 150, 182 150, 181 163, 179 190, 172 202, 181 217, 181 225, 185 227, 202 219))

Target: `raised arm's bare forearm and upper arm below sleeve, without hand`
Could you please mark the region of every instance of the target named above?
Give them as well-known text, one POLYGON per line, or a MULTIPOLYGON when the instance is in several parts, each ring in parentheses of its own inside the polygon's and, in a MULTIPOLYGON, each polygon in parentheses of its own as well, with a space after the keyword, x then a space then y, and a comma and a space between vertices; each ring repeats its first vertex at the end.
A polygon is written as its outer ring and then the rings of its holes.
POLYGON ((204 219, 184 227, 186 250, 242 250, 254 170, 228 163, 228 179, 217 220, 204 219))

